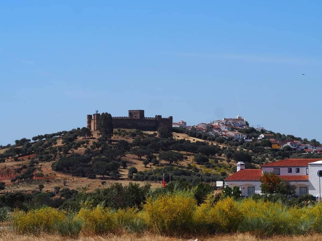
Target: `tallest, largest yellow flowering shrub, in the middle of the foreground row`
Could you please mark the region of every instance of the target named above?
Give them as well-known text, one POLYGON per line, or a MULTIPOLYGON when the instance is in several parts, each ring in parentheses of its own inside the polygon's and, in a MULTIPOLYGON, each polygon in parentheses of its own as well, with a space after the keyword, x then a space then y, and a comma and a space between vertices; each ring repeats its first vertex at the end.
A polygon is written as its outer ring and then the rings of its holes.
POLYGON ((197 203, 191 193, 177 192, 151 197, 144 205, 144 218, 149 227, 160 234, 173 235, 193 229, 197 203))

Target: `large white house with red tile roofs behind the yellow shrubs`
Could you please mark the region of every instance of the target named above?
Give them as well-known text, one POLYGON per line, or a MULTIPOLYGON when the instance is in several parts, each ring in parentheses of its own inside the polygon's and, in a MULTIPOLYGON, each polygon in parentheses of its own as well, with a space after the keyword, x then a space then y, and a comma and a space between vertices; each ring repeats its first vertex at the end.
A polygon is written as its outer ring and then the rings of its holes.
POLYGON ((309 193, 319 198, 321 195, 321 159, 285 159, 263 164, 261 169, 245 169, 245 164, 238 162, 237 172, 224 180, 225 186, 239 186, 242 196, 248 196, 253 193, 260 194, 260 177, 263 172, 274 172, 283 181, 289 181, 295 185, 296 195, 298 196, 309 193))

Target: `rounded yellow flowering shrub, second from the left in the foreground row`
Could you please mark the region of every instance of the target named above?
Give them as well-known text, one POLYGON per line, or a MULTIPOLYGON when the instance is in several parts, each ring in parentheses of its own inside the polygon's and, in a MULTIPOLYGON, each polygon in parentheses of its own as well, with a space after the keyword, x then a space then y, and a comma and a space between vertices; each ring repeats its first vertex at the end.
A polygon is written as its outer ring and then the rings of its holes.
POLYGON ((83 223, 82 232, 85 234, 106 234, 114 231, 114 214, 98 205, 95 209, 82 208, 76 216, 83 223))

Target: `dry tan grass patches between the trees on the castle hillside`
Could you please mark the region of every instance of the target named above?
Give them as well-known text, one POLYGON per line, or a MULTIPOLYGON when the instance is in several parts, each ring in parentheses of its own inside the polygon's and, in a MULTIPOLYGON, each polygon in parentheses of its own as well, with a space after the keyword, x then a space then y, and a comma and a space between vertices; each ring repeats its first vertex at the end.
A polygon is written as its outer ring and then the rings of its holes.
MULTIPOLYGON (((124 132, 130 132, 133 130, 122 130, 124 132)), ((92 132, 93 137, 84 139, 83 137, 78 136, 74 142, 81 142, 86 140, 88 142, 87 145, 81 146, 77 149, 71 149, 69 151, 68 155, 71 155, 71 153, 77 153, 80 155, 85 154, 85 150, 87 147, 90 147, 93 145, 93 142, 98 141, 98 133, 97 131, 92 132)), ((144 132, 144 135, 152 135, 153 132, 146 131, 144 132)), ((188 136, 187 134, 182 133, 173 133, 173 137, 176 140, 189 140, 191 142, 204 142, 202 139, 198 138, 192 138, 188 136)), ((121 135, 114 135, 111 138, 112 143, 117 143, 119 140, 125 140, 129 143, 132 143, 133 140, 137 137, 130 137, 130 136, 121 136, 121 135)), ((144 138, 147 138, 146 136, 144 138)), ((143 138, 143 139, 144 139, 143 138)), ((58 137, 57 144, 53 145, 52 147, 64 147, 65 144, 62 144, 62 137, 58 137)), ((208 141, 206 141, 208 142, 208 141)), ((208 142, 209 144, 213 144, 208 142)), ((220 145, 220 148, 222 149, 224 145, 220 145)), ((51 149, 51 147, 47 147, 47 149, 51 149)), ((0 150, 1 153, 4 153, 7 149, 0 150)), ((235 161, 231 160, 230 163, 227 163, 227 158, 223 156, 213 156, 210 157, 211 160, 216 160, 219 164, 223 165, 218 168, 207 168, 204 165, 196 164, 193 162, 194 154, 191 152, 184 152, 179 151, 181 154, 183 154, 186 159, 184 159, 182 162, 179 162, 178 164, 173 165, 175 168, 185 168, 187 165, 193 165, 196 166, 196 168, 203 168, 204 174, 206 173, 217 173, 220 175, 220 172, 226 172, 226 174, 232 173, 231 167, 236 164, 235 161), (217 169, 217 170, 216 170, 217 169)), ((155 153, 157 155, 157 153, 155 153)), ((128 178, 128 170, 130 167, 134 166, 137 168, 138 171, 144 171, 149 172, 152 170, 155 170, 160 167, 167 167, 167 163, 164 160, 159 160, 158 165, 152 165, 152 163, 148 164, 147 167, 143 164, 143 160, 146 159, 146 157, 142 157, 142 159, 139 159, 137 156, 131 154, 130 152, 127 152, 125 156, 121 157, 121 160, 127 160, 127 168, 118 168, 119 173, 121 174, 119 180, 110 180, 110 179, 100 179, 99 176, 97 176, 96 179, 88 179, 80 176, 72 176, 69 173, 65 172, 58 172, 52 170, 52 163, 57 161, 59 159, 59 155, 57 155, 55 158, 53 158, 51 161, 40 161, 38 164, 35 165, 36 170, 34 171, 34 177, 33 181, 22 181, 22 182, 15 182, 14 184, 11 183, 11 180, 18 174, 17 170, 21 170, 22 172, 24 169, 22 167, 28 165, 30 160, 38 160, 40 155, 37 155, 35 153, 29 154, 29 155, 19 155, 14 157, 9 157, 5 159, 4 163, 0 163, 0 182, 5 182, 6 188, 5 191, 13 192, 13 191, 24 191, 24 192, 31 192, 38 189, 39 184, 43 184, 44 188, 43 191, 52 191, 54 190, 54 187, 60 186, 62 188, 70 188, 70 189, 78 189, 81 187, 86 186, 89 190, 94 190, 96 188, 102 187, 102 181, 105 181, 106 184, 108 183, 114 183, 119 182, 122 184, 128 184, 129 182, 135 182, 135 183, 144 183, 144 181, 133 181, 128 178), (43 176, 37 177, 36 174, 42 174, 43 176)), ((162 182, 159 181, 149 181, 151 183, 152 188, 158 187, 162 185, 162 182)))

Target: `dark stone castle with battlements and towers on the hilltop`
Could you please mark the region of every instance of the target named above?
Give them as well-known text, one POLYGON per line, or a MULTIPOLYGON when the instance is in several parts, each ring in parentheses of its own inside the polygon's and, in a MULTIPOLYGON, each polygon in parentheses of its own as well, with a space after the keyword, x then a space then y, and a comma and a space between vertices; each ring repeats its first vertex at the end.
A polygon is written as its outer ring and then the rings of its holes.
MULTIPOLYGON (((100 114, 87 115, 87 128, 98 130, 100 114)), ((114 129, 139 129, 139 130, 156 130, 161 124, 172 129, 172 116, 162 118, 161 115, 156 117, 145 117, 144 110, 129 110, 128 116, 112 117, 114 129)))

